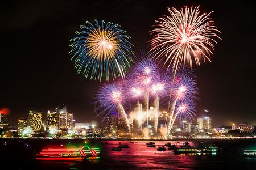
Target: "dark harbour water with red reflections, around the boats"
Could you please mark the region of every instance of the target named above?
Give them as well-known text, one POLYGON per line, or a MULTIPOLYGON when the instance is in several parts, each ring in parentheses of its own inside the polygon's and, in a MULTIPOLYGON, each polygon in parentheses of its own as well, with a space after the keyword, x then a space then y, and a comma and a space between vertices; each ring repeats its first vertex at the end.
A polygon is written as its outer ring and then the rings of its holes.
POLYGON ((203 141, 204 143, 216 143, 222 151, 217 154, 200 155, 176 155, 171 150, 164 152, 156 150, 158 146, 163 146, 166 142, 184 143, 185 141, 154 141, 155 148, 148 148, 146 142, 148 141, 130 143, 130 141, 88 139, 9 139, 7 140, 9 152, 0 153, 0 163, 1 166, 7 165, 9 169, 256 169, 255 158, 243 158, 243 150, 256 149, 255 139, 203 141), (111 151, 111 148, 118 146, 119 142, 127 143, 130 148, 123 148, 121 152, 111 151), (20 149, 24 143, 30 143, 36 154, 39 154, 42 148, 88 145, 100 147, 101 155, 87 161, 80 158, 30 159, 20 149))

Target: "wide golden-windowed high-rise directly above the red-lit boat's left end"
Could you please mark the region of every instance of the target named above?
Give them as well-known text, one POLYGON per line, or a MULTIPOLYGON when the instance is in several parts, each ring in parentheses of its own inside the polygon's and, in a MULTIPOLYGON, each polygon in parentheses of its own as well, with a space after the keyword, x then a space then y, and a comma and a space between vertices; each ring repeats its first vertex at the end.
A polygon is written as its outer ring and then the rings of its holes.
POLYGON ((42 130, 43 124, 43 112, 30 111, 28 114, 28 125, 33 128, 33 130, 42 130))

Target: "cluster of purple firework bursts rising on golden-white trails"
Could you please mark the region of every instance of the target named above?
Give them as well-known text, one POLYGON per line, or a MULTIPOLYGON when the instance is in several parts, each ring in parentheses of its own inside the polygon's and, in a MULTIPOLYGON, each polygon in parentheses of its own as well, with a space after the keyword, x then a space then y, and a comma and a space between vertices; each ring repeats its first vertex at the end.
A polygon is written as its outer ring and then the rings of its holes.
POLYGON ((96 94, 96 111, 105 120, 123 117, 128 127, 129 122, 133 124, 135 120, 141 132, 143 128, 145 130, 150 127, 149 123, 154 122, 151 125, 154 126, 154 132, 158 133, 159 117, 162 115, 159 114, 159 105, 166 107, 167 100, 171 100, 171 111, 168 112, 168 117, 166 114, 166 123, 170 120, 169 134, 176 118, 193 118, 197 91, 196 76, 190 68, 177 71, 174 78, 172 71, 163 71, 155 61, 146 58, 135 62, 126 80, 115 80, 114 83, 106 83, 100 87, 96 94), (150 78, 150 82, 143 83, 142 77, 150 78), (173 91, 171 99, 170 89, 173 91), (149 111, 150 104, 152 109, 149 111), (130 121, 126 113, 130 113, 130 121), (144 123, 146 126, 142 126, 144 123))

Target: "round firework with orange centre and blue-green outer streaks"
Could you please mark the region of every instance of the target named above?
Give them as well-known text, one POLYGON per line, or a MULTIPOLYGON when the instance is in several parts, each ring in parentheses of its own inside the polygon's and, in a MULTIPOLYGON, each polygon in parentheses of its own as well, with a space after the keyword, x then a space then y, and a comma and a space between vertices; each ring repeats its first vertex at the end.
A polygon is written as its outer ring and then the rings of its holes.
POLYGON ((86 22, 87 26, 81 25, 86 31, 76 31, 77 37, 71 39, 69 54, 73 55, 71 59, 75 58, 77 73, 83 73, 86 78, 90 75, 91 80, 101 80, 105 74, 106 80, 110 76, 112 79, 118 75, 123 77, 132 62, 130 55, 134 53, 128 41, 130 37, 124 34, 126 31, 118 29, 118 24, 95 22, 95 26, 90 22, 86 22))

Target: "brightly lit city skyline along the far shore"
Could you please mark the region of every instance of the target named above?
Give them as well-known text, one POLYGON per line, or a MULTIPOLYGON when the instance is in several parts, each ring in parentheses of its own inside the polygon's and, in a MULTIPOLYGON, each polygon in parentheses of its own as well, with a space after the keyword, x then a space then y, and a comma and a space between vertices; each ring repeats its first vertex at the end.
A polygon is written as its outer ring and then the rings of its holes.
MULTIPOLYGON (((28 119, 18 119, 18 135, 134 135, 143 134, 144 138, 151 137, 160 137, 164 135, 165 138, 168 137, 167 134, 167 121, 169 119, 168 113, 163 111, 160 112, 159 119, 162 121, 159 122, 158 132, 155 132, 154 122, 150 121, 150 133, 147 134, 145 129, 145 124, 143 128, 140 128, 139 124, 129 124, 132 131, 129 132, 125 121, 122 118, 115 120, 113 117, 109 117, 109 122, 106 125, 96 126, 90 122, 75 122, 72 120, 73 114, 68 113, 67 106, 56 108, 55 111, 47 113, 47 123, 44 124, 42 120, 42 112, 30 111, 28 113, 28 119), (164 123, 165 122, 165 123, 164 123), (24 133, 23 133, 24 131, 24 133)), ((171 129, 171 135, 179 136, 182 135, 191 135, 195 137, 197 135, 212 135, 222 137, 222 134, 230 135, 232 133, 237 133, 236 130, 240 131, 242 135, 245 133, 253 133, 254 125, 248 125, 243 122, 238 125, 233 124, 232 126, 221 126, 221 127, 212 127, 212 118, 210 117, 199 117, 196 122, 189 121, 176 121, 174 126, 171 129), (231 131, 232 130, 232 131, 231 131)))

